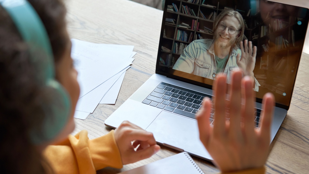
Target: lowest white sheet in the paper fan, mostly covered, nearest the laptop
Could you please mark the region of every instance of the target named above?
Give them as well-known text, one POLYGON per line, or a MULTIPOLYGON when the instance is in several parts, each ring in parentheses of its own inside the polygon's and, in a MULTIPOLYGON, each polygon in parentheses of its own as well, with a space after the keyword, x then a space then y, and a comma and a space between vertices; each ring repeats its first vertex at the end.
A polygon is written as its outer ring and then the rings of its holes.
MULTIPOLYGON (((136 52, 133 52, 130 58, 133 58, 136 52)), ((108 90, 108 92, 104 95, 102 100, 100 101, 100 104, 115 104, 123 79, 125 78, 125 72, 119 77, 119 79, 115 82, 114 85, 112 85, 111 89, 108 90)))

